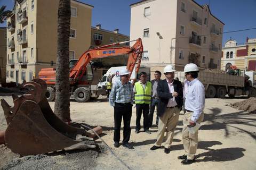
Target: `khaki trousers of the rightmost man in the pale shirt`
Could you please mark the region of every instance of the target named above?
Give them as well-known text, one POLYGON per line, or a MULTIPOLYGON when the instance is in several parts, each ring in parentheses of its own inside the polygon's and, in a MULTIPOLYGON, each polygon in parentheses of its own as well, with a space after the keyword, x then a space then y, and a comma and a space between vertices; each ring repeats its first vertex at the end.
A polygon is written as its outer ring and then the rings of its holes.
MULTIPOLYGON (((183 117, 183 129, 182 129, 182 142, 183 147, 185 149, 185 155, 187 155, 187 159, 193 160, 196 154, 196 149, 198 145, 198 131, 195 134, 191 134, 188 132, 189 121, 193 112, 186 112, 183 117)), ((201 123, 204 120, 204 113, 196 121, 197 123, 201 123)))

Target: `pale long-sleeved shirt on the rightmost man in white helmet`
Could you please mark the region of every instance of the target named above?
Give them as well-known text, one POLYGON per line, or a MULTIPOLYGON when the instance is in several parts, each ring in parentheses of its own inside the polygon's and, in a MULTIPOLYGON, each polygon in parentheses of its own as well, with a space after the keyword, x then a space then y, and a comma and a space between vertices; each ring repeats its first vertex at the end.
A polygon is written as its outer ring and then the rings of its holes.
POLYGON ((190 81, 185 98, 185 109, 193 112, 191 121, 196 122, 204 110, 204 85, 198 79, 190 81))

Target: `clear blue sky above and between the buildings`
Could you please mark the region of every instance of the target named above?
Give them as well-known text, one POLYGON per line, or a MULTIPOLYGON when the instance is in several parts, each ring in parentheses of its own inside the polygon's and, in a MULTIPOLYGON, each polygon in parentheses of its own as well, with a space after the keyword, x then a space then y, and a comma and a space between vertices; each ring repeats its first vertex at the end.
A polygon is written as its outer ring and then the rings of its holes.
MULTIPOLYGON (((39 0, 42 1, 42 0, 39 0)), ((54 1, 54 0, 53 0, 54 1)), ((130 35, 130 4, 139 0, 81 0, 93 5, 92 25, 100 23, 103 29, 119 29, 120 33, 130 35)), ((169 0, 172 1, 172 0, 169 0)), ((13 8, 14 0, 0 0, 0 6, 13 8)), ((213 15, 225 23, 223 31, 256 28, 255 7, 256 0, 196 0, 198 4, 209 4, 213 15)), ((0 24, 5 27, 6 24, 0 24)), ((222 43, 230 37, 237 43, 245 43, 246 37, 256 38, 256 29, 242 32, 223 34, 222 43)))

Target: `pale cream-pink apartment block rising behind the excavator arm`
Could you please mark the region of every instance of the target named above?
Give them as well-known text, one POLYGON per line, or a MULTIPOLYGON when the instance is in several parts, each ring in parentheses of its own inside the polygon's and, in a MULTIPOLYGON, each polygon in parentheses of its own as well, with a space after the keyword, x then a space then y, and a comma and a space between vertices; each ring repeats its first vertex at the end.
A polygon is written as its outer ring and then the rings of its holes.
POLYGON ((187 63, 220 69, 224 23, 209 5, 193 0, 144 0, 130 6, 130 38, 142 38, 142 64, 152 72, 163 71, 166 64, 181 71, 187 63))

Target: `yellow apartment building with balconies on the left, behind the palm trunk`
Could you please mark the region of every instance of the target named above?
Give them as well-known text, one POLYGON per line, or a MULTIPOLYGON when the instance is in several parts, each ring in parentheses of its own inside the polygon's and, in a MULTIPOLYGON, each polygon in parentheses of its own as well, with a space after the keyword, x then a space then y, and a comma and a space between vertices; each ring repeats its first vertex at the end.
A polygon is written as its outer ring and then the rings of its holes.
MULTIPOLYGON (((17 0, 7 19, 6 81, 21 83, 38 77, 42 68, 55 67, 59 1, 17 0)), ((70 59, 91 44, 93 6, 71 0, 70 59)))

